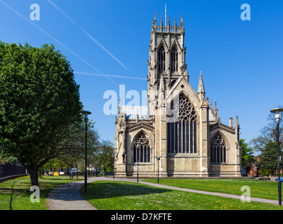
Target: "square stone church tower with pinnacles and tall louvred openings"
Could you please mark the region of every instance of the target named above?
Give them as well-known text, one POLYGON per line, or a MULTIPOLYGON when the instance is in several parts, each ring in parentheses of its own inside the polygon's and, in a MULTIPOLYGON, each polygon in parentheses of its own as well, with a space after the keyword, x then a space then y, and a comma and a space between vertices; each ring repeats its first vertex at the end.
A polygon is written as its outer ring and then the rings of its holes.
POLYGON ((147 61, 149 104, 153 104, 154 94, 170 90, 180 76, 185 76, 187 81, 189 80, 187 64, 185 64, 184 38, 185 29, 182 15, 178 26, 176 18, 174 24, 170 25, 169 16, 166 25, 163 24, 162 18, 160 25, 157 25, 154 13, 150 34, 150 58, 147 61))

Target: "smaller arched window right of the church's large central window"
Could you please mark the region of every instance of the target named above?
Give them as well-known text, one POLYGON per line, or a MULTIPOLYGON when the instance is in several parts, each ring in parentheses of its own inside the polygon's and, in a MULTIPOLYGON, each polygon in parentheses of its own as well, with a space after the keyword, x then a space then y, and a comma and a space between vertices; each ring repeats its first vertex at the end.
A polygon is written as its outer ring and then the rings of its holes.
POLYGON ((211 163, 226 162, 225 141, 219 133, 211 141, 210 159, 211 163))

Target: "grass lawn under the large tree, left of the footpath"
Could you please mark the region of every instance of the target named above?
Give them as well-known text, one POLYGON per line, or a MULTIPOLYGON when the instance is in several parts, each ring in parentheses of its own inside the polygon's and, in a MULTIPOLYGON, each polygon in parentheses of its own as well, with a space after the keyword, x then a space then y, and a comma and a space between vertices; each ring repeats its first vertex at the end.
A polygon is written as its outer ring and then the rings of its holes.
MULTIPOLYGON (((82 179, 81 179, 82 180, 82 179)), ((0 210, 48 210, 46 197, 55 187, 70 181, 67 176, 44 176, 39 179, 40 202, 30 202, 33 193, 29 191, 31 182, 29 176, 20 177, 0 183, 0 210)))

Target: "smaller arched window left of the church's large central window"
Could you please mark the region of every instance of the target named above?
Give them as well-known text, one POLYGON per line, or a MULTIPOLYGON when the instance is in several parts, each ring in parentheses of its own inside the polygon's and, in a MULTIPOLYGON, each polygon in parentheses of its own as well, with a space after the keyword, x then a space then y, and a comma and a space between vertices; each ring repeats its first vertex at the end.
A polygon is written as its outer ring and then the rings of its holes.
POLYGON ((150 141, 143 132, 133 143, 133 162, 150 162, 150 141))

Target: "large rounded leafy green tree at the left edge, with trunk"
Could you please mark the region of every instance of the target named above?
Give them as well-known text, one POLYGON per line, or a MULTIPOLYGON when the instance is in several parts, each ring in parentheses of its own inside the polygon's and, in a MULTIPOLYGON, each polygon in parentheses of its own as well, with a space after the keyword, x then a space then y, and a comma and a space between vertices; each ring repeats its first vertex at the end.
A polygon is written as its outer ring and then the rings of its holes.
POLYGON ((62 152, 58 143, 81 110, 70 62, 53 45, 0 42, 1 154, 18 159, 32 186, 39 186, 39 167, 62 152))

